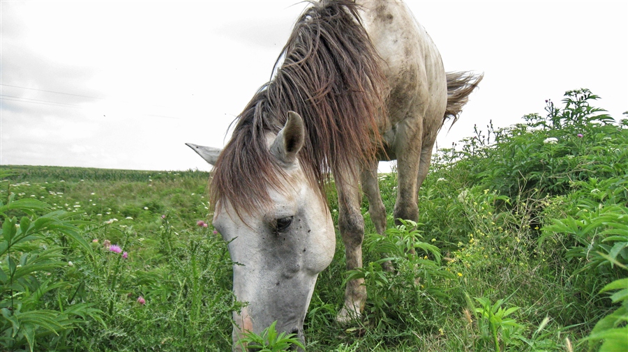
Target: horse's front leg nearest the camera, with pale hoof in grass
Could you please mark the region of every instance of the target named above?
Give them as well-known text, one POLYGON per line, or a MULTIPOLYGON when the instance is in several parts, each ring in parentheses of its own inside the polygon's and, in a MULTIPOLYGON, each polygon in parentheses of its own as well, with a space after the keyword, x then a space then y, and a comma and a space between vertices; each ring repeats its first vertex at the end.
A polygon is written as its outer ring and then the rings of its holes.
MULTIPOLYGON (((347 180, 348 181, 348 180, 347 180)), ((362 267, 362 240, 364 239, 364 217, 360 211, 361 192, 357 180, 338 188, 338 228, 345 244, 347 270, 362 267)), ((345 289, 345 304, 336 319, 345 323, 358 319, 366 303, 364 279, 350 280, 345 289)))

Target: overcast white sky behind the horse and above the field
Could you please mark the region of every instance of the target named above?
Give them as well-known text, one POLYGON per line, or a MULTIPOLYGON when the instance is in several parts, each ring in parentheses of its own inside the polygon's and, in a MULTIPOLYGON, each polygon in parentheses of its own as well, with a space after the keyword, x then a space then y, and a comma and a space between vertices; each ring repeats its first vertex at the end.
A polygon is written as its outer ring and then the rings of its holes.
MULTIPOLYGON (((304 8, 288 1, 1 1, 0 164, 209 170, 304 8)), ((446 70, 485 73, 440 146, 588 88, 628 110, 628 1, 408 1, 446 70)), ((385 169, 385 168, 384 168, 385 169)))

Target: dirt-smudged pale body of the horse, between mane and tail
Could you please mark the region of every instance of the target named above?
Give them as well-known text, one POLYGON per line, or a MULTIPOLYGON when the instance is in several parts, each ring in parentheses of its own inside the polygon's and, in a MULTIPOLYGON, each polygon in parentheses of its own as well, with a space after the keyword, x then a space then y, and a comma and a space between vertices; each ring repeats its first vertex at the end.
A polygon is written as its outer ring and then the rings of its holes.
POLYGON ((447 75, 440 52, 405 3, 358 2, 389 83, 387 121, 380 124, 380 132, 391 142, 396 126, 408 125, 420 130, 422 140, 435 139, 447 107, 447 75))

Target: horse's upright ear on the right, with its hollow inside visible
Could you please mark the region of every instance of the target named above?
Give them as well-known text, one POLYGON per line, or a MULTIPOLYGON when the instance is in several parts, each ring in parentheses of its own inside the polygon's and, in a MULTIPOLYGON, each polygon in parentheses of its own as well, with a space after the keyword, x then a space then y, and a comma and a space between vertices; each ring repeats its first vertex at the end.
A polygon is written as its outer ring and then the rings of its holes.
POLYGON ((291 164, 294 162, 294 158, 297 158, 297 153, 303 146, 304 138, 303 118, 296 112, 288 112, 285 126, 277 134, 275 141, 270 147, 270 152, 281 162, 291 164))

